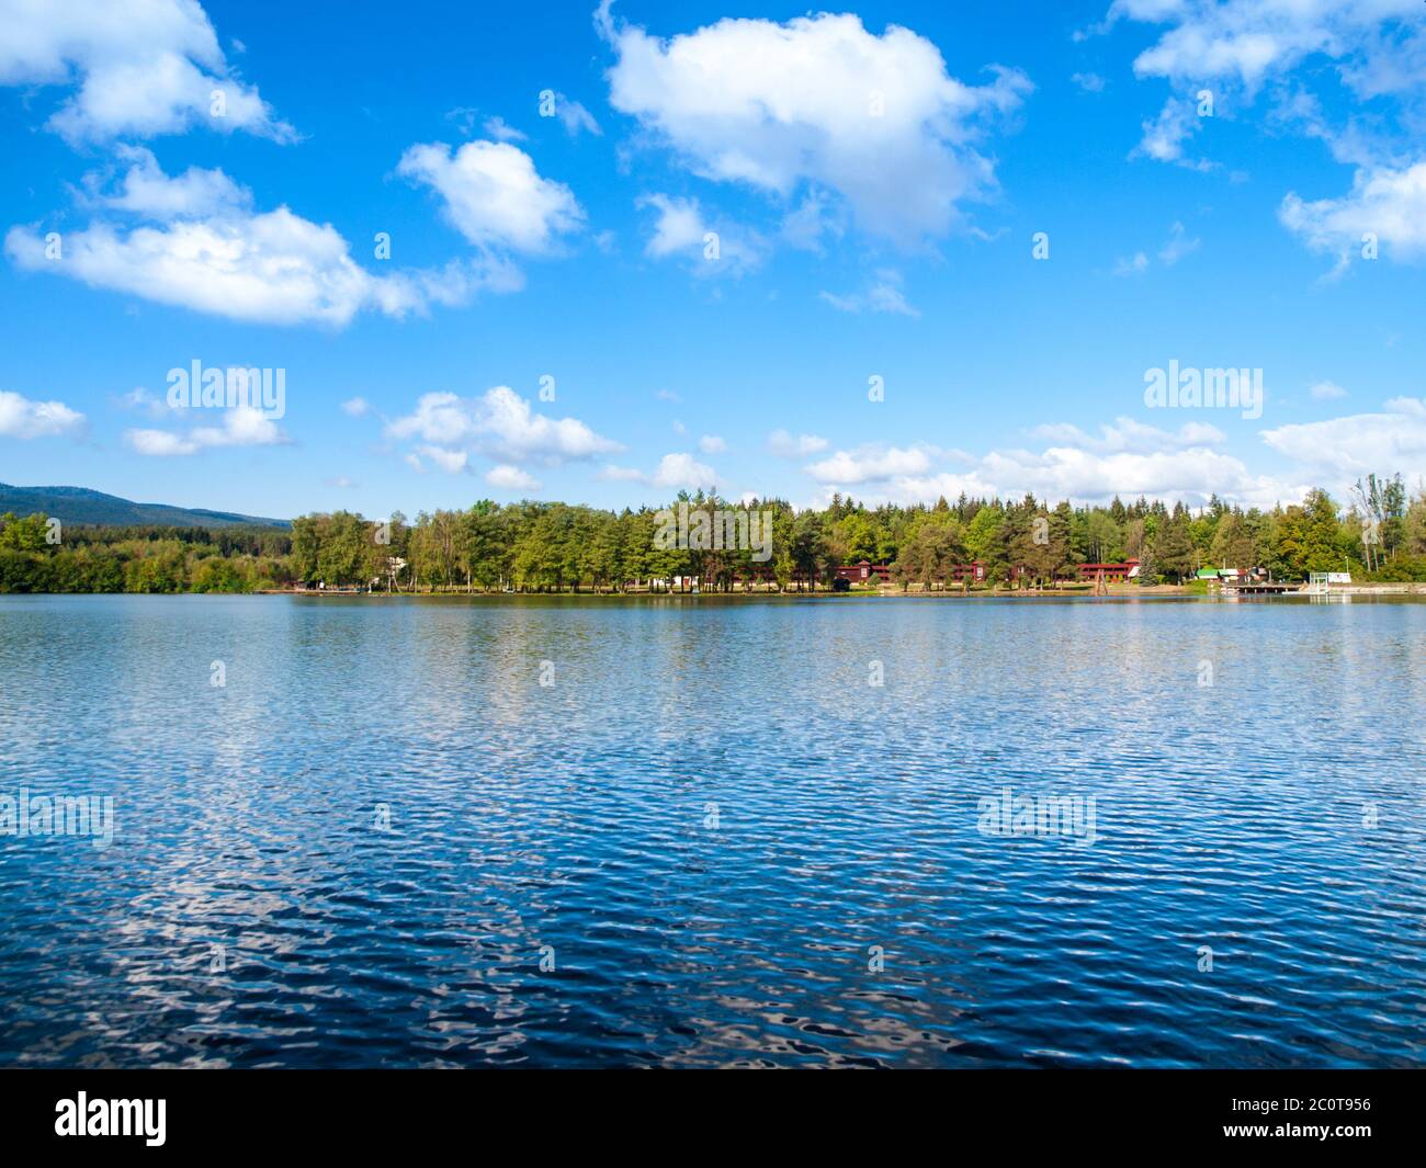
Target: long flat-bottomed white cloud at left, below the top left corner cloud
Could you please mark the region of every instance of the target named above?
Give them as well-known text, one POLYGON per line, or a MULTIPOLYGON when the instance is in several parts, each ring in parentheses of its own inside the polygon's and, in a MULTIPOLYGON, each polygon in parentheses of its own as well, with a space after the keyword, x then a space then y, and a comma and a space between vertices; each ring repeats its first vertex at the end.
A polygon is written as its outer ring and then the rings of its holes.
POLYGON ((98 201, 157 225, 100 220, 66 231, 58 260, 46 255, 36 228, 13 227, 4 240, 11 262, 231 319, 332 328, 364 309, 402 317, 519 287, 519 274, 498 261, 372 275, 331 224, 287 207, 255 214, 251 193, 222 171, 170 178, 148 151, 127 157, 133 165, 118 193, 98 201))

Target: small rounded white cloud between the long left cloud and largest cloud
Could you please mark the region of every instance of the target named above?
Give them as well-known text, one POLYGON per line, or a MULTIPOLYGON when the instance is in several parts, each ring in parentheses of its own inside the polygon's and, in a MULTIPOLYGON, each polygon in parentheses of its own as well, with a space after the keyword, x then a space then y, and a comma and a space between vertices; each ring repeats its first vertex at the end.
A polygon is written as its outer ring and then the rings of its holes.
POLYGON ((585 221, 569 187, 542 178, 509 143, 473 141, 453 153, 443 143, 414 145, 396 173, 432 187, 446 220, 476 247, 542 255, 585 221))

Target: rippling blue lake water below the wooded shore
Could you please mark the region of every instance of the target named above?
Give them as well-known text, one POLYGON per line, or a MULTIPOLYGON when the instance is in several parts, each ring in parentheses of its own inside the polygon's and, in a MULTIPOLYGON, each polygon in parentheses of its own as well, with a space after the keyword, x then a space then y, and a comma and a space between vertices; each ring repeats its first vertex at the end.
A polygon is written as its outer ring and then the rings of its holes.
POLYGON ((1423 780, 1422 603, 0 596, 0 1062, 1417 1065, 1423 780))

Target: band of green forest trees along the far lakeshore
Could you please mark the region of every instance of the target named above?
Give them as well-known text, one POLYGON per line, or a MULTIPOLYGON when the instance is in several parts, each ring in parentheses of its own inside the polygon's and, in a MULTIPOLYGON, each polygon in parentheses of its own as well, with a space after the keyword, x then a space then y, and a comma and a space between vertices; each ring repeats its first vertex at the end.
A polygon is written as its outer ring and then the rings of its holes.
MULTIPOLYGON (((693 509, 729 511, 682 493, 693 509)), ((1081 563, 1139 560, 1139 585, 1182 583, 1199 568, 1261 568, 1273 578, 1350 570, 1365 580, 1426 580, 1426 492, 1400 475, 1362 479, 1339 503, 1312 491, 1302 503, 1243 511, 1216 496, 1204 508, 1139 498, 1108 506, 1024 499, 938 499, 866 506, 833 496, 821 511, 781 499, 771 558, 750 549, 666 548, 660 512, 559 502, 466 511, 302 515, 291 531, 237 526, 68 526, 44 515, 0 516, 0 592, 260 592, 339 588, 389 592, 627 592, 699 580, 700 590, 827 589, 838 565, 890 565, 894 585, 947 588, 951 568, 980 560, 984 588, 1038 588, 1072 579, 1081 563)), ((686 585, 684 585, 686 586, 686 585)))

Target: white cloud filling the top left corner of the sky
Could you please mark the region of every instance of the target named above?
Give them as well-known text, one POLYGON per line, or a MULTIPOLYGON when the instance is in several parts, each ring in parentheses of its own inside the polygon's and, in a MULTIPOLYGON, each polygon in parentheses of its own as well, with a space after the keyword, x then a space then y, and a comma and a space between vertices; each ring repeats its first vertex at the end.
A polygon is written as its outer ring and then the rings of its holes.
POLYGON ((71 143, 193 125, 295 137, 257 88, 234 76, 197 0, 0 0, 0 84, 77 87, 48 121, 71 143))

